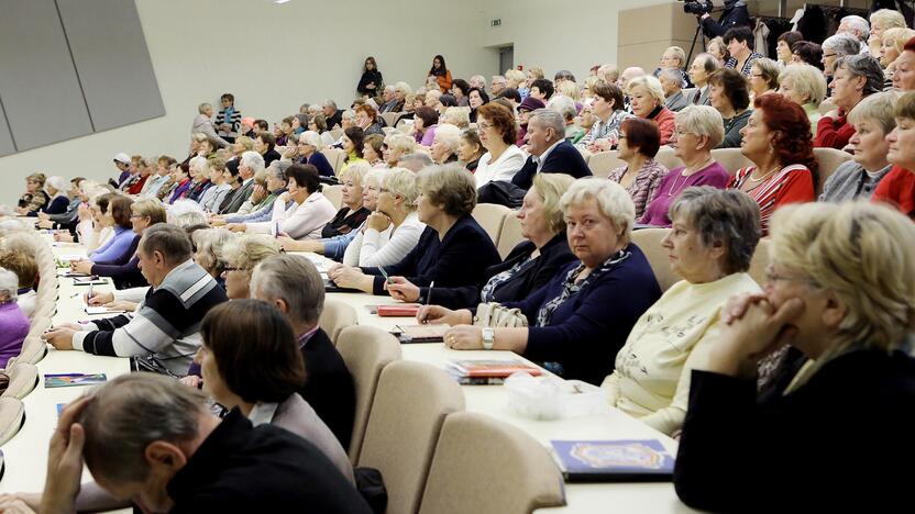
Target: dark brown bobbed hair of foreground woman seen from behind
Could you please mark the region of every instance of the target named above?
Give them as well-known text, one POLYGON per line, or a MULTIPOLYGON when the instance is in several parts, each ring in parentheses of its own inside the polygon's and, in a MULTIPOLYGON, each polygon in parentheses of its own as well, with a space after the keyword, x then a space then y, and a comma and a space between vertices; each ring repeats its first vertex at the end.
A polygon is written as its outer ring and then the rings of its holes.
POLYGON ((266 302, 223 302, 203 316, 200 334, 222 381, 247 403, 280 403, 305 384, 293 326, 266 302))

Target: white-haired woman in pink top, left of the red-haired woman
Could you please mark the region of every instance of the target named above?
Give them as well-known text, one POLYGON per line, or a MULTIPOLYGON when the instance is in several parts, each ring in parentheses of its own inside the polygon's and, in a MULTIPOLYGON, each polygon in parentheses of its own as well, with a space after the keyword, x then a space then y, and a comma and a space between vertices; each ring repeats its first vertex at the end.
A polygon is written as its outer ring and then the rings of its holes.
POLYGON ((671 226, 668 213, 686 188, 724 189, 730 179, 728 170, 712 157, 712 149, 725 138, 721 114, 708 105, 690 105, 677 112, 675 120, 671 146, 684 166, 673 168, 661 179, 658 195, 639 219, 643 225, 671 226))

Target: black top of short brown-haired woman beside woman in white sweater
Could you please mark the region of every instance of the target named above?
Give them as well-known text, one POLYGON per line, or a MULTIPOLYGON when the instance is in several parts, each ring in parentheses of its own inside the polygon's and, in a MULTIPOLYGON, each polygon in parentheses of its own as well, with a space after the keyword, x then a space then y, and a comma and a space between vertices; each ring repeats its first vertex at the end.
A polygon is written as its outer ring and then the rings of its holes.
MULTIPOLYGON (((440 288, 475 286, 483 279, 486 268, 499 262, 499 253, 486 231, 470 214, 458 220, 443 238, 431 226, 419 236, 416 247, 399 262, 385 266, 388 276, 401 276, 416 286, 425 299, 429 286, 440 288)), ((362 268, 375 276, 374 293, 386 294, 385 278, 378 268, 362 268)), ((433 291, 434 301, 434 291, 433 291)), ((425 300, 422 300, 425 301, 425 300)))

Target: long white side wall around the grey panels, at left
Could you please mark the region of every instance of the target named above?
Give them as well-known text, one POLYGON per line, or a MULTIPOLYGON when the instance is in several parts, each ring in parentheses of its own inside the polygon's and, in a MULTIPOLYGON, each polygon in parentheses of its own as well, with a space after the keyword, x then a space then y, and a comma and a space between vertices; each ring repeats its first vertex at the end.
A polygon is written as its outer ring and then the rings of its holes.
POLYGON ((33 171, 104 180, 118 152, 180 160, 197 105, 218 104, 225 91, 244 115, 277 121, 304 102, 333 98, 349 105, 370 54, 386 81, 415 87, 438 53, 455 77, 495 72, 495 53, 475 43, 481 11, 454 7, 444 0, 374 7, 359 0, 136 0, 166 115, 0 158, 0 203, 14 203, 33 171), (445 9, 453 12, 443 18, 445 9))

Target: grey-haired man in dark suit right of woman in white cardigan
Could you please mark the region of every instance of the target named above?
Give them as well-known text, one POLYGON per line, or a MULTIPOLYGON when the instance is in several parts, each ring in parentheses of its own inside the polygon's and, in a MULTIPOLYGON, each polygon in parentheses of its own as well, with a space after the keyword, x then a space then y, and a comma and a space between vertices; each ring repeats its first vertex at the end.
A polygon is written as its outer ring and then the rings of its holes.
POLYGON ((575 178, 592 175, 582 154, 565 141, 562 114, 549 109, 533 111, 525 141, 530 157, 511 179, 515 186, 530 189, 537 174, 566 174, 575 178))

